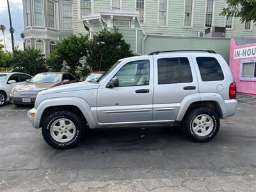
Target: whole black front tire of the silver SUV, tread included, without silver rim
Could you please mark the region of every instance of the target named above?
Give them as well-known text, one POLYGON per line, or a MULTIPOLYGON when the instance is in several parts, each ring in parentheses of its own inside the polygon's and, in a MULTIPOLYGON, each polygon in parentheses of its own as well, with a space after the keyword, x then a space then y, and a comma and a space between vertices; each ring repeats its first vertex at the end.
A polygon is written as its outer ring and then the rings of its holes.
POLYGON ((44 137, 44 140, 46 141, 46 143, 48 143, 48 145, 57 149, 67 149, 75 147, 77 143, 79 143, 79 141, 81 141, 81 139, 83 138, 84 131, 85 123, 83 119, 76 113, 67 110, 55 111, 47 115, 42 124, 42 135, 44 137), (51 136, 51 125, 59 118, 67 118, 68 120, 72 121, 76 126, 76 133, 74 134, 74 137, 72 138, 72 140, 66 143, 58 142, 54 140, 54 138, 52 138, 51 136))

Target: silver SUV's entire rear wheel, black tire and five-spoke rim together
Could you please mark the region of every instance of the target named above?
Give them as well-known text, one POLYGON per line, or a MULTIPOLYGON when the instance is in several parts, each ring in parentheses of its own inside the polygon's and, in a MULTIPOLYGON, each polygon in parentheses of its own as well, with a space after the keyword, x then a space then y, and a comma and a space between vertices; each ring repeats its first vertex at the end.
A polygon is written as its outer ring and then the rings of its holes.
POLYGON ((182 123, 182 130, 191 141, 212 140, 220 129, 220 117, 211 108, 197 108, 190 111, 182 123))

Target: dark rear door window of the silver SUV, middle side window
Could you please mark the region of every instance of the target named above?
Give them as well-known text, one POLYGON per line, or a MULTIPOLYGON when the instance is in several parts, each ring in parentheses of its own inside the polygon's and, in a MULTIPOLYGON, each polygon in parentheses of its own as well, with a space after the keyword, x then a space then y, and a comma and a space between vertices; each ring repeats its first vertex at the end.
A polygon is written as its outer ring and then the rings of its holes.
POLYGON ((189 83, 193 81, 188 58, 157 60, 158 84, 189 83))

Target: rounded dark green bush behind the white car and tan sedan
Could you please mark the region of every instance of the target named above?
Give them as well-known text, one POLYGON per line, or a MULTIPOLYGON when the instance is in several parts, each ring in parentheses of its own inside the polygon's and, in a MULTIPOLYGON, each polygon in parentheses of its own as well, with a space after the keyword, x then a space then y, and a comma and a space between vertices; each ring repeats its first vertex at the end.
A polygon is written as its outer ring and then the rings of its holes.
POLYGON ((35 76, 40 72, 46 72, 44 54, 40 50, 27 47, 24 51, 15 50, 12 59, 12 68, 19 68, 20 71, 35 76))

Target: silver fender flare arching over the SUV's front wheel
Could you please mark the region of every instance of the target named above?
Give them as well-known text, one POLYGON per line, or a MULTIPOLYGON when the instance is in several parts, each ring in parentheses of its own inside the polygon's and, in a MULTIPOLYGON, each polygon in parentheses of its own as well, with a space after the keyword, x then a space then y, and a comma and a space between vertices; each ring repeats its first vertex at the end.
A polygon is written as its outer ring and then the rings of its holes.
POLYGON ((41 118, 45 109, 54 106, 76 106, 83 113, 83 116, 84 118, 86 118, 89 127, 97 127, 92 115, 90 105, 88 104, 88 102, 86 102, 86 100, 81 99, 79 97, 58 97, 45 99, 42 102, 40 102, 36 110, 35 127, 40 127, 41 118))

